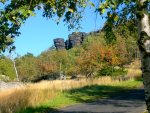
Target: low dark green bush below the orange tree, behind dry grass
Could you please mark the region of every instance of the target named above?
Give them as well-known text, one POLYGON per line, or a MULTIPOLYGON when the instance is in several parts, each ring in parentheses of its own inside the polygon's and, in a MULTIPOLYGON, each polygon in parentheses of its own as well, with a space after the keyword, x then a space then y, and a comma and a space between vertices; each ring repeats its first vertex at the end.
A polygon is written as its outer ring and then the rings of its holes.
POLYGON ((104 67, 98 72, 99 76, 119 76, 125 74, 127 74, 127 71, 124 68, 113 66, 104 67))

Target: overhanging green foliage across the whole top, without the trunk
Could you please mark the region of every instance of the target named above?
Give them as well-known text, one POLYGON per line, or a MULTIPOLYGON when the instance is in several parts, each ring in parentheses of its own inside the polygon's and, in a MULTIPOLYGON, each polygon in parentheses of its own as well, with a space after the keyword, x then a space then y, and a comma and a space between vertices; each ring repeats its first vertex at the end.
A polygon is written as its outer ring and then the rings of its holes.
POLYGON ((144 0, 143 5, 140 0, 0 0, 0 3, 3 6, 0 9, 0 51, 5 51, 7 47, 15 49, 10 46, 14 42, 13 38, 20 34, 19 28, 27 18, 35 15, 36 10, 42 10, 43 17, 53 18, 56 23, 63 19, 68 28, 72 29, 79 27, 84 9, 92 6, 101 15, 107 13, 103 30, 108 43, 111 43, 115 40, 113 26, 124 26, 130 21, 125 28, 135 30, 133 25, 137 23, 137 17, 142 15, 140 9, 145 7, 147 13, 150 9, 149 0, 144 0))

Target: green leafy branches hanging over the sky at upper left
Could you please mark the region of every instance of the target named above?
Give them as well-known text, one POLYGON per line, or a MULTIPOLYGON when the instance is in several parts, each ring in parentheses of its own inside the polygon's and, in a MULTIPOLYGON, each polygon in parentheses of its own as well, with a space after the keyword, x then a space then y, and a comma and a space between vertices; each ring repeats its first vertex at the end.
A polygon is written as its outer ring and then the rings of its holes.
POLYGON ((71 29, 79 26, 86 1, 0 0, 4 7, 0 8, 0 52, 5 51, 6 47, 10 47, 10 50, 14 49, 13 39, 20 34, 18 30, 26 19, 35 15, 35 10, 41 9, 44 17, 55 18, 57 23, 64 16, 63 21, 71 29), (9 41, 8 38, 12 41, 9 41))

